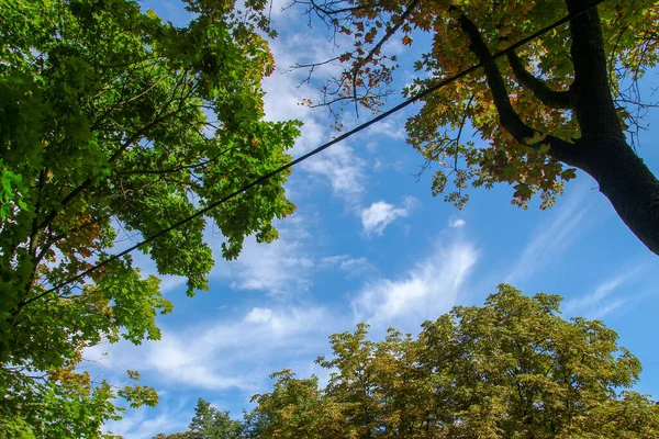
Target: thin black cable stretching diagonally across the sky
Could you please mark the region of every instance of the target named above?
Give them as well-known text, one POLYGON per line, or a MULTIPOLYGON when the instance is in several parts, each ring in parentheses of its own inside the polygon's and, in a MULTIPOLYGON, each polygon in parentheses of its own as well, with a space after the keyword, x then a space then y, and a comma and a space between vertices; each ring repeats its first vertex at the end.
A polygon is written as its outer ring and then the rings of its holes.
POLYGON ((515 50, 516 48, 524 46, 525 44, 532 42, 533 40, 537 38, 538 36, 540 36, 543 34, 551 31, 552 29, 558 27, 561 24, 565 24, 568 21, 570 21, 570 20, 572 20, 572 19, 574 19, 574 18, 583 14, 584 12, 589 11, 590 9, 596 7, 597 4, 600 4, 602 2, 604 2, 604 0, 595 0, 592 3, 590 3, 589 5, 584 7, 582 10, 580 10, 578 12, 573 12, 571 14, 568 14, 568 15, 563 16, 562 19, 560 19, 560 20, 558 20, 558 21, 556 21, 556 22, 554 22, 554 23, 551 23, 551 24, 549 24, 549 25, 540 29, 539 31, 537 31, 537 32, 535 32, 535 33, 533 33, 533 34, 530 34, 530 35, 528 35, 528 36, 520 40, 517 43, 514 43, 514 44, 510 45, 509 47, 506 47, 506 48, 504 48, 504 49, 502 49, 500 52, 496 52, 495 54, 492 55, 492 57, 490 59, 488 59, 485 61, 478 63, 478 64, 476 64, 476 65, 473 65, 473 66, 471 66, 471 67, 469 67, 469 68, 467 68, 467 69, 465 69, 465 70, 462 70, 462 71, 460 71, 460 72, 458 72, 458 74, 456 74, 456 75, 454 75, 451 77, 449 77, 449 78, 443 79, 442 81, 439 81, 436 85, 434 85, 434 86, 432 86, 432 87, 429 87, 429 88, 427 88, 427 89, 418 92, 417 94, 413 95, 412 98, 407 99, 406 101, 404 101, 402 103, 399 103, 398 105, 395 105, 395 106, 387 110, 386 112, 380 113, 379 115, 377 115, 376 117, 371 119, 370 121, 368 121, 368 122, 366 122, 366 123, 364 123, 364 124, 361 124, 361 125, 359 125, 359 126, 357 126, 357 127, 355 127, 355 128, 353 128, 353 130, 350 130, 350 131, 342 134, 340 136, 338 136, 338 137, 330 140, 330 142, 327 142, 327 143, 319 146, 317 148, 315 148, 315 149, 313 149, 313 150, 311 150, 311 151, 309 151, 309 153, 306 153, 306 154, 298 157, 297 159, 288 162, 287 165, 283 165, 281 167, 275 169, 273 171, 270 171, 270 172, 266 173, 265 176, 259 177, 258 179, 252 181, 250 183, 247 183, 244 187, 242 187, 241 189, 237 189, 236 191, 230 193, 228 195, 226 195, 226 196, 224 196, 224 198, 222 198, 222 199, 220 199, 220 200, 217 200, 217 201, 209 204, 208 206, 205 206, 203 209, 198 210, 194 214, 192 214, 192 215, 190 215, 190 216, 188 216, 188 217, 186 217, 183 219, 178 221, 177 223, 172 224, 171 226, 169 226, 167 228, 164 228, 160 232, 158 232, 158 233, 156 233, 156 234, 154 234, 152 236, 146 237, 145 239, 143 239, 142 241, 135 244, 134 246, 129 247, 125 250, 123 250, 123 251, 121 251, 121 252, 119 252, 116 255, 111 256, 110 258, 108 258, 108 259, 105 259, 105 260, 97 263, 93 267, 90 267, 89 269, 82 271, 81 273, 79 273, 79 274, 70 278, 69 280, 67 280, 65 282, 62 282, 62 283, 57 284, 56 286, 53 286, 49 290, 46 290, 45 292, 43 292, 43 293, 41 293, 41 294, 38 294, 38 295, 36 295, 36 296, 34 296, 34 297, 32 297, 32 299, 23 302, 22 306, 27 305, 29 303, 34 302, 34 301, 36 301, 36 300, 38 300, 38 299, 41 299, 41 297, 43 297, 43 296, 45 296, 47 294, 51 294, 51 293, 53 293, 53 292, 55 292, 55 291, 57 291, 57 290, 59 290, 59 289, 62 289, 64 286, 67 286, 67 285, 71 284, 71 283, 76 282, 77 280, 82 279, 83 277, 92 273, 93 271, 98 270, 99 268, 107 266, 108 263, 110 263, 110 262, 112 262, 112 261, 114 261, 114 260, 116 260, 116 259, 119 259, 119 258, 121 258, 121 257, 123 257, 123 256, 125 256, 125 255, 127 255, 127 254, 130 254, 130 252, 138 249, 139 247, 142 247, 142 246, 144 246, 144 245, 146 245, 148 243, 152 243, 152 241, 158 239, 159 237, 161 237, 164 235, 167 235, 169 232, 171 232, 171 230, 174 230, 174 229, 176 229, 176 228, 178 228, 178 227, 180 227, 180 226, 182 226, 182 225, 191 222, 194 218, 198 218, 198 217, 204 215, 206 212, 210 212, 211 210, 217 207, 219 205, 226 203, 227 201, 230 201, 230 200, 238 196, 239 194, 248 191, 249 189, 254 188, 255 185, 265 183, 271 177, 273 177, 273 176, 276 176, 276 175, 278 175, 280 172, 283 172, 284 170, 287 170, 289 168, 292 168, 293 166, 295 166, 295 165, 298 165, 298 164, 306 160, 308 158, 311 158, 311 157, 315 156, 316 154, 319 154, 319 153, 327 149, 332 145, 335 145, 335 144, 337 144, 339 142, 343 142, 346 138, 348 138, 348 137, 350 137, 350 136, 353 136, 353 135, 355 135, 355 134, 357 134, 357 133, 359 133, 359 132, 368 128, 369 126, 371 126, 371 125, 380 122, 381 120, 383 120, 383 119, 392 115, 393 113, 396 113, 400 110, 406 108, 407 105, 410 105, 410 104, 412 104, 412 103, 414 103, 414 102, 416 102, 416 101, 418 101, 418 100, 427 97, 428 94, 437 91, 438 89, 440 89, 443 87, 446 87, 449 83, 453 83, 453 82, 457 81, 458 79, 461 79, 461 78, 463 78, 463 77, 472 74, 473 71, 476 71, 479 68, 485 66, 487 64, 493 63, 494 60, 501 58, 502 56, 504 56, 509 52, 515 50))

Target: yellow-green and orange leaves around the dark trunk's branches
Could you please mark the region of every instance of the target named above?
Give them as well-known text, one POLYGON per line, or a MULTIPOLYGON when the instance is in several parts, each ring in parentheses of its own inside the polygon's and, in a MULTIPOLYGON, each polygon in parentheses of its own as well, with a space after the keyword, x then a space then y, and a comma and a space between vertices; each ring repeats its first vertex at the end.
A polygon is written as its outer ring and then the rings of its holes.
MULTIPOLYGON (((330 79, 321 100, 311 103, 327 105, 339 117, 350 103, 378 111, 391 94, 393 72, 399 68, 392 47, 412 46, 421 52, 417 59, 405 60, 405 66, 413 66, 416 72, 403 89, 409 98, 487 61, 491 54, 561 19, 568 12, 567 3, 576 9, 589 2, 298 0, 295 3, 310 15, 319 16, 335 35, 350 42, 351 47, 335 58, 344 66, 342 74, 330 79)), ((608 88, 619 108, 613 123, 619 123, 634 143, 643 128, 643 115, 654 106, 643 101, 637 81, 657 65, 659 40, 655 30, 659 9, 656 2, 643 0, 625 5, 604 2, 599 10, 608 88)), ((574 178, 572 167, 588 171, 587 166, 567 159, 569 148, 578 148, 572 142, 581 137, 583 130, 574 110, 571 43, 569 26, 556 27, 510 54, 507 59, 500 59, 422 100, 422 109, 406 123, 407 142, 423 156, 423 170, 438 166, 433 194, 445 193, 446 201, 461 207, 468 200, 469 185, 491 188, 503 182, 514 188, 513 204, 526 209, 529 200, 539 194, 540 209, 546 209, 562 194, 565 182, 574 178), (463 128, 476 131, 484 142, 466 139, 461 136, 463 128)))

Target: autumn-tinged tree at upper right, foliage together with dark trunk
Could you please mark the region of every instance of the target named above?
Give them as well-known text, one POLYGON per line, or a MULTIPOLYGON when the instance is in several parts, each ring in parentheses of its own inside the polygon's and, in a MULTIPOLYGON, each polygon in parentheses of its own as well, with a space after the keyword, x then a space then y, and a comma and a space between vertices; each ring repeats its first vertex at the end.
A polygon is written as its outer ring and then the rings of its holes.
MULTIPOLYGON (((462 206, 466 189, 514 185, 513 203, 540 207, 562 194, 574 169, 591 175, 632 232, 659 254, 659 181, 629 145, 648 105, 637 81, 657 65, 659 5, 654 0, 426 1, 295 0, 353 47, 333 60, 323 99, 338 114, 357 102, 377 111, 399 67, 394 47, 420 47, 407 97, 478 63, 477 72, 422 99, 406 124, 407 142, 437 164, 433 193, 462 206), (587 10, 588 9, 588 10, 587 10), (583 12, 587 10, 585 12, 583 12), (507 53, 492 54, 573 14, 507 53), (473 127, 489 145, 463 136, 473 127), (449 179, 451 181, 449 181, 449 179)), ((342 40, 343 41, 343 40, 342 40)), ((405 56, 404 53, 401 56, 405 56)), ((326 61, 321 61, 324 64, 326 61)), ((306 67, 315 65, 308 65, 306 67)))

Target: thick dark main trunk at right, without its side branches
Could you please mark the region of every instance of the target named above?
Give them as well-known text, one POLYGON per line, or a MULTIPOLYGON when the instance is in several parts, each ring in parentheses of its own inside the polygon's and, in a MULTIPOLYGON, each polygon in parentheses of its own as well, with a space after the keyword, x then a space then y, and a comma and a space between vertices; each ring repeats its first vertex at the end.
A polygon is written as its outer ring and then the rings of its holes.
MULTIPOLYGON (((570 12, 587 3, 567 0, 570 12)), ((608 86, 597 9, 571 20, 570 33, 574 65, 570 94, 581 128, 573 154, 629 229, 659 255, 659 181, 625 139, 608 86)))

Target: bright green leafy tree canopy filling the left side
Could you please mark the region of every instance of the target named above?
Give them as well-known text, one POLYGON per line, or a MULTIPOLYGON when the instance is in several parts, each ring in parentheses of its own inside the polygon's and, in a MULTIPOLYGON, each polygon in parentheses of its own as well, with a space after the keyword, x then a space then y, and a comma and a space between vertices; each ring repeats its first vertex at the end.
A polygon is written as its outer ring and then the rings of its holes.
MULTIPOLYGON (((299 124, 264 121, 266 3, 187 0, 193 19, 176 27, 132 0, 0 1, 0 430, 92 438, 120 415, 115 397, 156 403, 76 365, 90 346, 159 338, 155 316, 171 311, 159 280, 126 256, 47 292, 118 239, 152 236, 289 161, 299 124)), ((158 273, 187 278, 188 294, 205 290, 206 225, 227 259, 248 235, 277 238, 273 219, 294 209, 287 176, 142 250, 158 273)))

